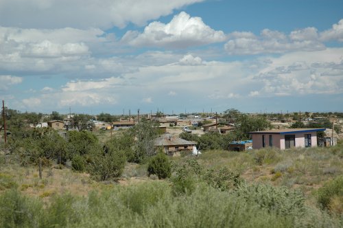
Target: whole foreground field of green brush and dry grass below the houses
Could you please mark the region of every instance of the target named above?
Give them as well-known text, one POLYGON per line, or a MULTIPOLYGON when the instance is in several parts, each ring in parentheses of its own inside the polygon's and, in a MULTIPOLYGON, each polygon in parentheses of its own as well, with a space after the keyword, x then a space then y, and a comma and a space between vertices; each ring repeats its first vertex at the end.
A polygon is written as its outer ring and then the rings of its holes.
POLYGON ((167 157, 137 129, 102 144, 90 134, 10 141, 0 227, 343 226, 343 144, 167 157))

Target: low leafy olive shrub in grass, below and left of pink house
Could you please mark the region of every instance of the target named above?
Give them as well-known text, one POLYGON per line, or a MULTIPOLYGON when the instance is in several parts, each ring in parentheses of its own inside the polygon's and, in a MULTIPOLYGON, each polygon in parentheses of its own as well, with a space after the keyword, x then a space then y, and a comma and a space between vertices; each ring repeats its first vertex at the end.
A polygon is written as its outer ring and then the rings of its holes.
POLYGON ((228 170, 226 167, 220 168, 220 170, 206 170, 202 179, 212 187, 222 191, 237 187, 242 181, 238 172, 228 170))

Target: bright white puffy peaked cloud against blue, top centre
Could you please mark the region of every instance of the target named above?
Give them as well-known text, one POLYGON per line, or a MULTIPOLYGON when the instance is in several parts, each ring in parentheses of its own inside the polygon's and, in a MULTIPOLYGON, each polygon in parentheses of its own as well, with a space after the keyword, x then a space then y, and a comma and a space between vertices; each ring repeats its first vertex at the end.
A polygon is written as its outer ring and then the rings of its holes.
POLYGON ((122 41, 134 46, 185 48, 222 42, 225 39, 224 32, 213 30, 200 17, 180 12, 167 24, 158 21, 150 23, 141 34, 129 31, 122 41))

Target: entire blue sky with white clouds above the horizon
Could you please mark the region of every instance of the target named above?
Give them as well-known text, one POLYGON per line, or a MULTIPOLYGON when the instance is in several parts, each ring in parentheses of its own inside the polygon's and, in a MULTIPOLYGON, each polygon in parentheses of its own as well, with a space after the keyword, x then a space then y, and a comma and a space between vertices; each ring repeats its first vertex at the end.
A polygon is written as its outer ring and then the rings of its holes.
POLYGON ((0 0, 0 99, 37 113, 343 111, 343 1, 0 0))

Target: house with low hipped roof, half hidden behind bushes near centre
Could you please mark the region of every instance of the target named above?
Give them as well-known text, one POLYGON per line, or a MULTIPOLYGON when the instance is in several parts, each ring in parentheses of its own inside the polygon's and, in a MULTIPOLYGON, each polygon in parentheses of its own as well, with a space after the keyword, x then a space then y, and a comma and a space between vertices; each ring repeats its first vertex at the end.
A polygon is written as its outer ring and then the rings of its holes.
POLYGON ((196 142, 164 134, 154 139, 154 146, 157 148, 163 148, 163 151, 165 152, 178 152, 180 150, 192 151, 193 146, 196 146, 196 142))

